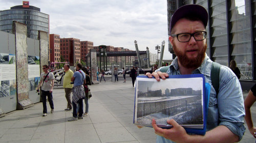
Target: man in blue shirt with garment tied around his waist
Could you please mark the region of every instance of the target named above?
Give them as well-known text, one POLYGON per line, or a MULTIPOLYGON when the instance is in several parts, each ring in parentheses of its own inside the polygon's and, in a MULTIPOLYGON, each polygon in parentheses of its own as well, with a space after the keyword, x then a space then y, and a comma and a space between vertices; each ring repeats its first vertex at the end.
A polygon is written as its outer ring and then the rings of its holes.
POLYGON ((74 73, 71 81, 74 82, 74 87, 72 89, 72 105, 73 105, 73 118, 68 121, 77 121, 77 119, 82 119, 83 104, 82 100, 86 97, 84 93, 83 83, 86 82, 86 74, 81 70, 82 64, 78 63, 76 65, 76 72, 74 73), (79 104, 79 115, 77 116, 77 104, 79 104))

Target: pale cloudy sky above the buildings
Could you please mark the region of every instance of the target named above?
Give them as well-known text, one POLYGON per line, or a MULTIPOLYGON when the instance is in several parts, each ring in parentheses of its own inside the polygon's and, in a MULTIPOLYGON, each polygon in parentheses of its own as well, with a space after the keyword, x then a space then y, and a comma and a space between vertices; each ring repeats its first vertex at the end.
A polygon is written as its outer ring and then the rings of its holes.
MULTIPOLYGON (((0 3, 0 10, 22 5, 17 0, 0 3)), ((166 0, 32 0, 29 4, 50 15, 50 34, 60 38, 131 50, 135 50, 136 40, 139 50, 148 47, 151 53, 157 53, 155 47, 165 41, 163 59, 172 59, 168 51, 166 0)))

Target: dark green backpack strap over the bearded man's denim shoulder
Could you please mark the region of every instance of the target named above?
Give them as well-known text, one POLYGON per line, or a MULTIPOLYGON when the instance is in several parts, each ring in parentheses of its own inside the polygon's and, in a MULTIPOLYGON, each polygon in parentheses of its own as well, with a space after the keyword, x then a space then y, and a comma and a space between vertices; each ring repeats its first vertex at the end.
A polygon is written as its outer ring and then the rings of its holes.
POLYGON ((218 97, 220 87, 220 69, 221 65, 219 63, 212 62, 210 70, 210 79, 211 84, 216 91, 216 98, 218 97))

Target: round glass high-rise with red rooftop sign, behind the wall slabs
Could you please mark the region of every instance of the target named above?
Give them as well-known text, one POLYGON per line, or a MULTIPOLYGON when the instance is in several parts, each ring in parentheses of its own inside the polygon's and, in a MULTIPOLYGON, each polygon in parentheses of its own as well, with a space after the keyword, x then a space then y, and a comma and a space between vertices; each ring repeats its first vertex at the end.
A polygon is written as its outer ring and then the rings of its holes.
POLYGON ((21 6, 11 7, 10 10, 0 11, 0 30, 12 33, 12 21, 18 21, 27 25, 27 36, 37 39, 38 31, 49 34, 49 15, 41 13, 34 6, 28 8, 21 6))

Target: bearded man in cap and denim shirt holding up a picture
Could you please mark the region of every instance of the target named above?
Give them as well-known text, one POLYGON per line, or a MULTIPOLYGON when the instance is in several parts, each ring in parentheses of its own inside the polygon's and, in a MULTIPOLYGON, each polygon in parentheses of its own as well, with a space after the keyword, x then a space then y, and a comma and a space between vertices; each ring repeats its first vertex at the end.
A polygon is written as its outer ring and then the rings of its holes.
POLYGON ((172 75, 203 74, 211 85, 205 135, 187 134, 175 120, 168 120, 171 129, 157 127, 152 120, 157 142, 238 142, 245 132, 243 94, 237 76, 226 66, 220 67, 219 91, 212 87, 210 78, 212 61, 206 55, 207 11, 199 5, 180 7, 170 21, 169 41, 177 57, 166 73, 160 69, 148 77, 156 80, 172 75), (219 92, 219 93, 218 93, 219 92), (218 93, 218 96, 217 94, 218 93))

